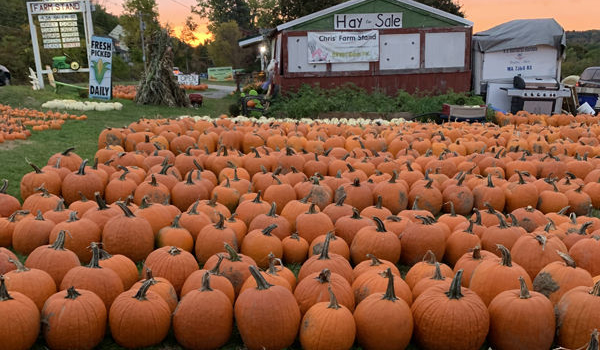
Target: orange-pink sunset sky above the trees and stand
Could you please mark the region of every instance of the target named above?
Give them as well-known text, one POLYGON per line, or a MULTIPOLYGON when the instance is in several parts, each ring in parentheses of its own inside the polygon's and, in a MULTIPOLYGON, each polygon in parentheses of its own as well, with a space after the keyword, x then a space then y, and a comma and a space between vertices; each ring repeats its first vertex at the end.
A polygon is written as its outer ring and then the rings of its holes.
MULTIPOLYGON (((119 14, 122 0, 98 0, 109 12, 119 14)), ((600 0, 459 0, 474 32, 519 18, 555 18, 566 30, 600 29, 600 0)), ((157 0, 160 21, 178 33, 196 0, 157 0)), ((198 42, 210 37, 200 22, 198 42)))

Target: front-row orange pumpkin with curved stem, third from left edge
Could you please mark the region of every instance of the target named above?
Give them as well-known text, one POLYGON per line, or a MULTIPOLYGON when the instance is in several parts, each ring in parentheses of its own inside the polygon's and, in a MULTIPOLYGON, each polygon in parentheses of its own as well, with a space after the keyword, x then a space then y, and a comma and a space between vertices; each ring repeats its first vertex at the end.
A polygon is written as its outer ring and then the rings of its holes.
POLYGON ((152 281, 137 290, 121 293, 108 313, 110 333, 126 348, 151 346, 163 341, 171 326, 171 310, 158 293, 149 291, 152 281))

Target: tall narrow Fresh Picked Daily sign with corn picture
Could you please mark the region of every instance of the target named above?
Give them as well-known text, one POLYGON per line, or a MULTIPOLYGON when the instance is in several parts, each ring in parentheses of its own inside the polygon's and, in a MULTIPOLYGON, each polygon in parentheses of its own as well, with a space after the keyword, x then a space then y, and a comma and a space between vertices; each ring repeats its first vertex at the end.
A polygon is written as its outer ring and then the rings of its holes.
POLYGON ((110 100, 112 94, 112 38, 92 36, 90 47, 90 98, 110 100))

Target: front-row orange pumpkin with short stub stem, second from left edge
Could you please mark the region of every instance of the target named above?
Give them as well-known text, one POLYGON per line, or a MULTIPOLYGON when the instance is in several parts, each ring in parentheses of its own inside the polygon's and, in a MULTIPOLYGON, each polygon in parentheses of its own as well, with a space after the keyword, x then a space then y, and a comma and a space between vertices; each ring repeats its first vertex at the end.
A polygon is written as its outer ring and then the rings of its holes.
POLYGON ((42 309, 42 333, 52 349, 93 349, 106 330, 106 307, 96 294, 70 287, 53 294, 42 309))

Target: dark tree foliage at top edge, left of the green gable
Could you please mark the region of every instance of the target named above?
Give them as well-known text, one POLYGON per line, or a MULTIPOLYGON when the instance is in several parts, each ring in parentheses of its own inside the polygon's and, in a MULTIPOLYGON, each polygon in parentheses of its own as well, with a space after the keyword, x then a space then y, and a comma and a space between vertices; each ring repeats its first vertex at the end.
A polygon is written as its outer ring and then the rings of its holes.
POLYGON ((245 0, 197 0, 197 5, 192 11, 200 17, 208 18, 209 30, 219 24, 234 21, 243 30, 252 29, 250 7, 245 0))

